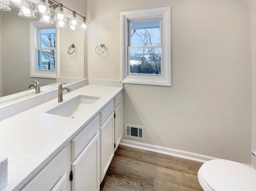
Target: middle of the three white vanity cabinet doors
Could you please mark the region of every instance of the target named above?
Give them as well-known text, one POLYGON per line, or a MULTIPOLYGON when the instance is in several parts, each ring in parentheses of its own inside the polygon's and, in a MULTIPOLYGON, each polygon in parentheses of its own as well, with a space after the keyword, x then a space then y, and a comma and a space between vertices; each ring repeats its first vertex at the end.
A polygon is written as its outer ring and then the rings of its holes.
POLYGON ((100 127, 100 182, 114 156, 114 112, 100 127))

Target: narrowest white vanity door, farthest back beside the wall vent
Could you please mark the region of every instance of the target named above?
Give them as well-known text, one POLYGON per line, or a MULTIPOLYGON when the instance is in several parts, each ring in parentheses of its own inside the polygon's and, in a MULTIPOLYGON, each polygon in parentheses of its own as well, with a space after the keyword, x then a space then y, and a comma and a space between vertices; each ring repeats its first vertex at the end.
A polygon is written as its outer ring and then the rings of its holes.
POLYGON ((123 105, 122 102, 115 109, 115 151, 123 137, 123 105))

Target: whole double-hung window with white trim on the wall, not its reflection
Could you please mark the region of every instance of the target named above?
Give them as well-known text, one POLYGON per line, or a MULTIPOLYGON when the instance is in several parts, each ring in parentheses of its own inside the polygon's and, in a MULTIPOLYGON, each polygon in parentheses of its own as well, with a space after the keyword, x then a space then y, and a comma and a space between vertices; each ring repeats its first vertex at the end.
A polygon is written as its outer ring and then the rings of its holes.
POLYGON ((170 7, 121 12, 122 82, 171 86, 170 7))

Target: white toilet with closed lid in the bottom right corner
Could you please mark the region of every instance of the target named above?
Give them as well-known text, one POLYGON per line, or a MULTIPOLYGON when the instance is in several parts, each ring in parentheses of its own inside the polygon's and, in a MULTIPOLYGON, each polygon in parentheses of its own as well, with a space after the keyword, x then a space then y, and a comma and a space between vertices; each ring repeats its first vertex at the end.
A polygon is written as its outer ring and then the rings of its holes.
POLYGON ((238 162, 215 159, 198 171, 204 191, 256 191, 256 171, 238 162))

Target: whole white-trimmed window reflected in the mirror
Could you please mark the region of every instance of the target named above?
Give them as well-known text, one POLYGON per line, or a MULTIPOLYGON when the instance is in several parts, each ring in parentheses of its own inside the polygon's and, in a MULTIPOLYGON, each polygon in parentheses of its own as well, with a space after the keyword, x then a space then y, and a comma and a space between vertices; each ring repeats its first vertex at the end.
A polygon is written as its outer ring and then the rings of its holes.
POLYGON ((54 25, 30 22, 30 77, 57 78, 54 25))

